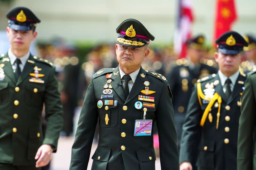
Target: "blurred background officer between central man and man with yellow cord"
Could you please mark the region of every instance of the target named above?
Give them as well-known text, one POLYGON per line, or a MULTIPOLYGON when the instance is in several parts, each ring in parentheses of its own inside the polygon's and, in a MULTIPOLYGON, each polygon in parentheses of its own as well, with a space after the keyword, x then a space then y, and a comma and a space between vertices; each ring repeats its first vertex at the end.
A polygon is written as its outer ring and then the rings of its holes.
POLYGON ((216 73, 211 66, 200 63, 206 53, 204 36, 198 35, 190 39, 188 44, 188 60, 179 59, 166 77, 173 93, 174 123, 178 135, 178 146, 182 133, 182 125, 187 111, 187 104, 197 79, 216 73))

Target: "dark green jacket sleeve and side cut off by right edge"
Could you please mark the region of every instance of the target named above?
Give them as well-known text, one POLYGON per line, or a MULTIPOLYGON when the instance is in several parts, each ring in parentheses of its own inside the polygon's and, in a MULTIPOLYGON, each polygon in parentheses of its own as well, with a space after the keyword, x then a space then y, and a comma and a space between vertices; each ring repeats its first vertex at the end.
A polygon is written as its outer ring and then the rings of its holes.
POLYGON ((239 119, 237 170, 256 169, 256 69, 247 76, 239 119))

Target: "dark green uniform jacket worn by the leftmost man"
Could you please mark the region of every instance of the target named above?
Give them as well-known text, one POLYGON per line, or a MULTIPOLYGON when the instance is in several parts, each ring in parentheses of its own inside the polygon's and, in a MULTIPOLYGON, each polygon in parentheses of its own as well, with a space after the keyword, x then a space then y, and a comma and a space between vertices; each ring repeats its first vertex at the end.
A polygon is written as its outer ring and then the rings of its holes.
POLYGON ((1 55, 0 66, 0 163, 35 165, 36 152, 42 144, 57 148, 62 127, 55 69, 47 61, 30 55, 16 82, 8 54, 1 55), (42 69, 41 83, 29 81, 33 79, 29 74, 35 72, 35 66, 42 69), (44 138, 43 104, 48 121, 44 138))

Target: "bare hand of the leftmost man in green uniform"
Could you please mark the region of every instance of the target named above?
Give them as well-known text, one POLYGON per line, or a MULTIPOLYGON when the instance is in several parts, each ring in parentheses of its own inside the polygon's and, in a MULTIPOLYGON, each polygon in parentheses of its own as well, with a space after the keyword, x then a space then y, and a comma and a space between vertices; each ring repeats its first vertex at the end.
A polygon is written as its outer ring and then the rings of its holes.
POLYGON ((47 165, 51 158, 52 158, 52 147, 49 144, 43 144, 40 146, 40 148, 36 152, 35 159, 38 159, 36 161, 36 167, 41 167, 47 165))

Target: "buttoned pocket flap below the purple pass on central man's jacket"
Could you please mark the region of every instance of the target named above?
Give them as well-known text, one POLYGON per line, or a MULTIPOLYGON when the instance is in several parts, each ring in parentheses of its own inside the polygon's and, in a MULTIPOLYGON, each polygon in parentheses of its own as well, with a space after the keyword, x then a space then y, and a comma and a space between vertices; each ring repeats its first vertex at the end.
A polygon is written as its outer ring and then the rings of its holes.
POLYGON ((148 162, 148 161, 156 160, 154 148, 139 148, 139 149, 136 149, 136 152, 140 162, 148 162))

